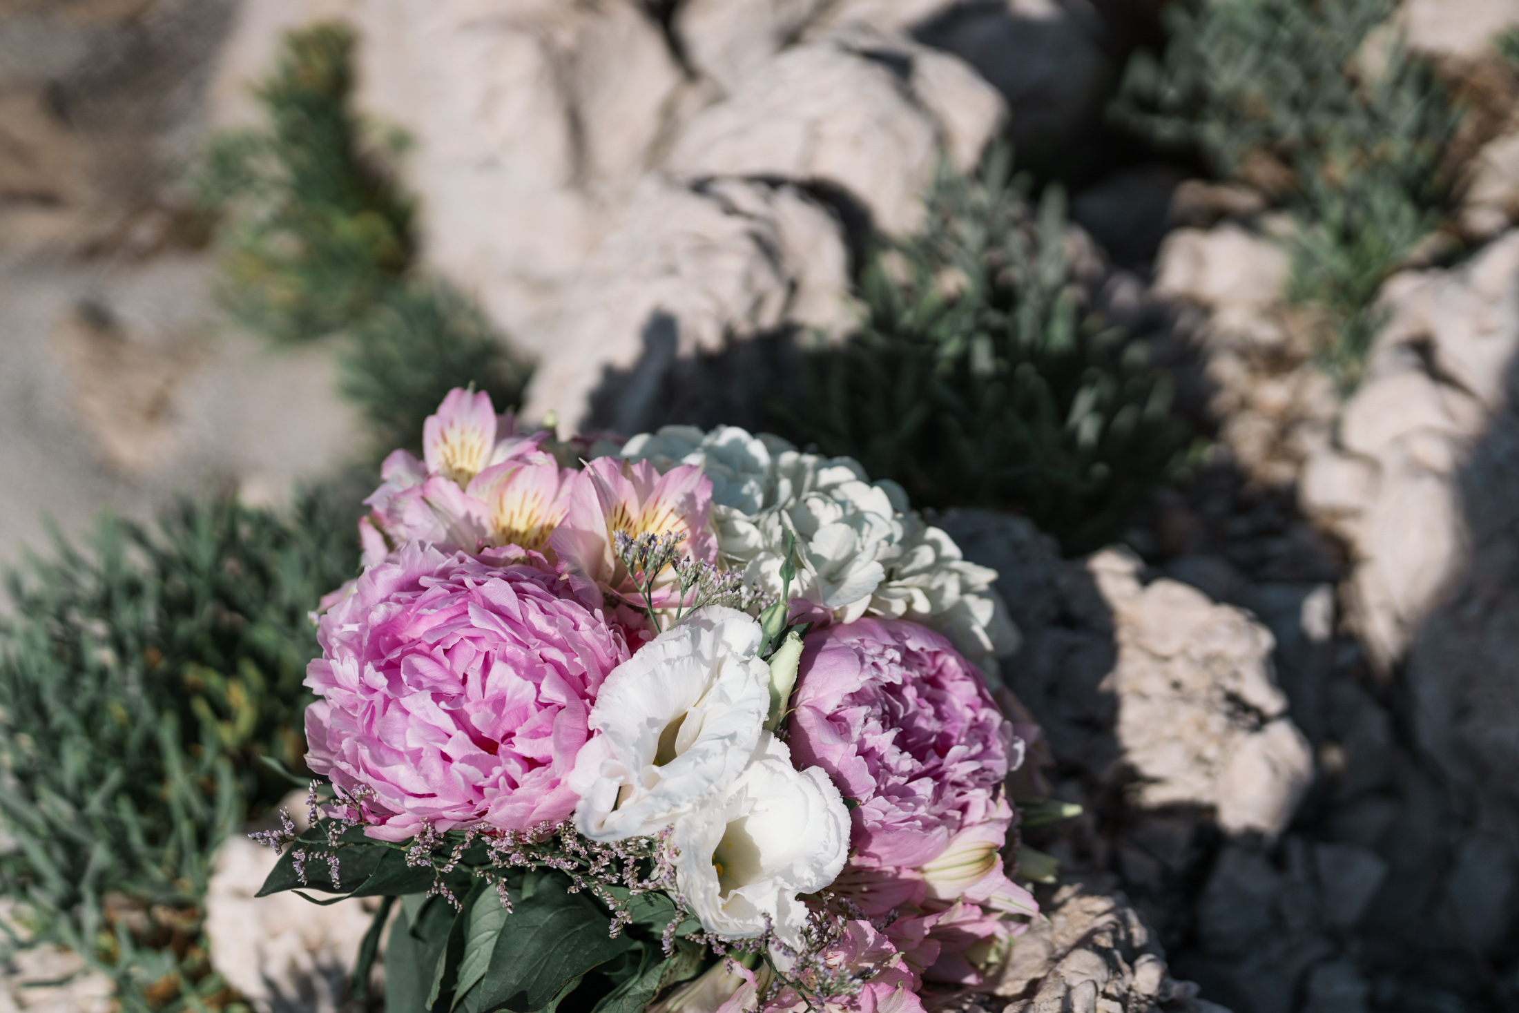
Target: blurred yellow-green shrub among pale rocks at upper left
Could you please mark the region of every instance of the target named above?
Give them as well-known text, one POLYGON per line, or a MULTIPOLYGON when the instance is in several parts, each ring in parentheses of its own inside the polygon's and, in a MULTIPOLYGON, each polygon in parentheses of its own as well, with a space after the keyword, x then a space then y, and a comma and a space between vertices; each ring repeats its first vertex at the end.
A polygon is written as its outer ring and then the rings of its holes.
POLYGON ((377 443, 413 447, 450 389, 472 383, 504 409, 527 371, 468 299, 416 276, 401 144, 363 143, 352 50, 342 24, 287 35, 257 91, 267 128, 217 138, 196 182, 225 223, 232 316, 275 342, 343 334, 343 393, 377 443))

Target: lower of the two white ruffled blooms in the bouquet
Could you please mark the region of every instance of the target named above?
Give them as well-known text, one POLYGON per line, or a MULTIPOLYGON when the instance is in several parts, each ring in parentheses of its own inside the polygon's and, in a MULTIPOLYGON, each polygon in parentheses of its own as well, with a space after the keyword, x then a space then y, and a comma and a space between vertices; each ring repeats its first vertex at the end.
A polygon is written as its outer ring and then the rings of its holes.
POLYGON ((674 825, 676 885, 702 926, 760 936, 766 923, 799 948, 801 893, 831 884, 849 852, 849 811, 820 767, 796 770, 785 743, 764 734, 726 791, 674 825))

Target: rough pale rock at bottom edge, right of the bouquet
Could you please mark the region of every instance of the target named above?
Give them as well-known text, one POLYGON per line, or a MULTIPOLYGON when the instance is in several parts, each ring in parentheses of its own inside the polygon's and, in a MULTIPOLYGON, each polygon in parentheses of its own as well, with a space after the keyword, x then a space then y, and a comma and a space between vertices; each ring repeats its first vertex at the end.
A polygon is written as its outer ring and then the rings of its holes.
POLYGON ((1150 1010, 1224 1013, 1197 998, 1197 986, 1174 981, 1154 933, 1121 893, 1082 882, 1062 885, 1044 905, 1045 919, 1013 942, 1007 963, 987 975, 1009 1010, 1150 1010))

